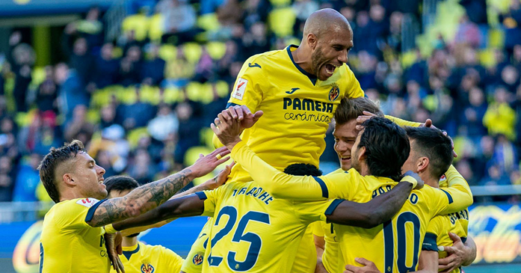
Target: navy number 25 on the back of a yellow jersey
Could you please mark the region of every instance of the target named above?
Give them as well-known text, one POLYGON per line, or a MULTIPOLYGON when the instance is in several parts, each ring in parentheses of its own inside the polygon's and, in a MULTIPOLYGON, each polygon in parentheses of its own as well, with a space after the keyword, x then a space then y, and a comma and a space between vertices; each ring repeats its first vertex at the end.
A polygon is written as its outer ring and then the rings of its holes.
MULTIPOLYGON (((215 237, 212 239, 212 248, 215 247, 216 243, 222 239, 222 237, 225 237, 228 235, 228 233, 230 233, 233 226, 235 225, 235 222, 237 222, 237 209, 235 209, 233 206, 225 206, 219 211, 219 215, 217 215, 217 218, 215 219, 214 226, 219 225, 219 220, 224 214, 228 215, 228 222, 226 223, 225 227, 219 230, 219 232, 217 232, 215 237)), ((231 241, 237 243, 240 241, 250 242, 250 249, 246 254, 246 259, 243 262, 238 262, 235 260, 235 255, 237 254, 236 252, 228 252, 228 266, 234 271, 250 270, 257 262, 259 252, 261 251, 261 237, 253 232, 247 232, 243 234, 246 225, 250 221, 266 223, 269 225, 269 215, 263 212, 249 211, 239 220, 239 225, 237 225, 237 230, 235 230, 231 241)), ((204 248, 206 248, 207 242, 208 240, 206 240, 204 243, 204 248)), ((210 255, 208 256, 208 263, 210 266, 219 266, 221 262, 222 257, 212 256, 212 253, 210 252, 210 255)))

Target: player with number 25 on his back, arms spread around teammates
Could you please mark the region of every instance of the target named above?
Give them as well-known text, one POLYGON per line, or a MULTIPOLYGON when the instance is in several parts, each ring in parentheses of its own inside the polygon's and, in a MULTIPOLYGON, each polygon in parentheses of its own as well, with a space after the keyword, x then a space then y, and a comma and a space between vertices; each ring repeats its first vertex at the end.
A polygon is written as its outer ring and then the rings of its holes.
MULTIPOLYGON (((290 165, 285 172, 289 176, 321 174, 311 164, 290 165)), ((169 200, 155 210, 115 223, 113 227, 123 230, 172 217, 213 216, 209 231, 213 237, 205 243, 208 262, 203 264, 204 272, 290 272, 309 224, 328 220, 341 225, 375 227, 391 218, 412 188, 413 183, 401 183, 367 203, 294 202, 270 196, 254 181, 229 181, 216 190, 169 200)))

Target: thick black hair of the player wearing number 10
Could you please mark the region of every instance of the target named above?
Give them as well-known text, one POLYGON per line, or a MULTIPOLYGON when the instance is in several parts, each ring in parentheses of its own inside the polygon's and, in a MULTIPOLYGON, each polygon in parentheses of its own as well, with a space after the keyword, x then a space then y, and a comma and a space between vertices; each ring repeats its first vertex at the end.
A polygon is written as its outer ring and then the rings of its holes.
POLYGON ((405 130, 386 118, 376 116, 362 125, 364 133, 358 148, 365 147, 366 162, 371 175, 400 180, 402 165, 411 151, 405 130))

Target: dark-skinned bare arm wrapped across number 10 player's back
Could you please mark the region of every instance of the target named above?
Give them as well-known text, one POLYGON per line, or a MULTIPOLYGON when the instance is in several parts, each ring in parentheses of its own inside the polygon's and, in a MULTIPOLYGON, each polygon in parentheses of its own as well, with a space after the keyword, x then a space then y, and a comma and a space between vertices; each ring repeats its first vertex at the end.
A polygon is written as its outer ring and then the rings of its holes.
POLYGON ((326 218, 328 222, 340 225, 374 228, 401 209, 412 189, 412 183, 402 182, 367 203, 337 199, 326 212, 326 218))

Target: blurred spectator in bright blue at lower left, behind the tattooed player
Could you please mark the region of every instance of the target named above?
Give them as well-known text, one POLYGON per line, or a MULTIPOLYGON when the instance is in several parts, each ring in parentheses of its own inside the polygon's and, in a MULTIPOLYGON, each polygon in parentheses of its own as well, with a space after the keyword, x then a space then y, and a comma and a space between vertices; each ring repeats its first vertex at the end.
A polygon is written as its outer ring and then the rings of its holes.
POLYGON ((20 164, 18 175, 16 176, 13 201, 33 202, 38 200, 36 199, 36 187, 40 183, 40 174, 38 172, 40 160, 41 156, 33 153, 20 164))

